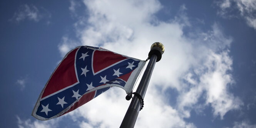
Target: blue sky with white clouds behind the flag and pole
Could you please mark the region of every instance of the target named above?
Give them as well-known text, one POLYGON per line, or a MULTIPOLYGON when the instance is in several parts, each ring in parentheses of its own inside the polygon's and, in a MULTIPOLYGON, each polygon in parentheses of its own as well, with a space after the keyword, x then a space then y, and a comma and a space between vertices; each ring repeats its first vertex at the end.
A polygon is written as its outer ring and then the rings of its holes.
POLYGON ((146 60, 154 42, 165 52, 135 128, 256 127, 256 0, 2 0, 0 13, 2 128, 119 127, 118 87, 52 120, 31 112, 69 50, 146 60))

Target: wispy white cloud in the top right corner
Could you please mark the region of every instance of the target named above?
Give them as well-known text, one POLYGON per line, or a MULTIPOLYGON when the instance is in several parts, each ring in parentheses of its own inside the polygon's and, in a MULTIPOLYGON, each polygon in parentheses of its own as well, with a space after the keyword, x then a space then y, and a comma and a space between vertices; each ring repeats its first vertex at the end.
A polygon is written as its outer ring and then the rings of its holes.
POLYGON ((243 17, 250 27, 256 29, 256 0, 223 0, 217 2, 220 7, 218 14, 223 17, 236 17, 229 13, 231 10, 238 10, 240 16, 243 17))

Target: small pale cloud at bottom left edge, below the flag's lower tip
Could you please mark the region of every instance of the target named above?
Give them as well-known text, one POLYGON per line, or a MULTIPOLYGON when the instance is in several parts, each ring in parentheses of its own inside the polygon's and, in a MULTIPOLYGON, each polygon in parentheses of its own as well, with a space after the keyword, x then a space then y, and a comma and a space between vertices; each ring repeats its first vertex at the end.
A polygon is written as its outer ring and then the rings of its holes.
POLYGON ((34 120, 31 121, 30 119, 23 120, 19 116, 16 116, 17 118, 17 125, 18 128, 57 128, 58 127, 58 120, 49 120, 49 121, 39 121, 34 120))

